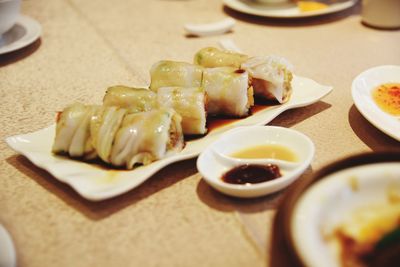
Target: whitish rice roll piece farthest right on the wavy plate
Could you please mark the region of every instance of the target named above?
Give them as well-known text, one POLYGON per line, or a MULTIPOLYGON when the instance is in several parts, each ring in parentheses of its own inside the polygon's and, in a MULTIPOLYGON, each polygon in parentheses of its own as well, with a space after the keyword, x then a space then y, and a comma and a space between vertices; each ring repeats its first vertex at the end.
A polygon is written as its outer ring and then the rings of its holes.
POLYGON ((254 95, 285 103, 292 93, 293 66, 278 56, 253 57, 244 62, 242 69, 251 76, 254 95))

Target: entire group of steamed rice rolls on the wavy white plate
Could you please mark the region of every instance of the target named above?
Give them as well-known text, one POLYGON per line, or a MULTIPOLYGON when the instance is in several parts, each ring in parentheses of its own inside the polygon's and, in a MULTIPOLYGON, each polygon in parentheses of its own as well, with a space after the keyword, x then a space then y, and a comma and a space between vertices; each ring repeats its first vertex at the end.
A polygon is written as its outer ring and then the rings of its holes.
POLYGON ((208 47, 194 61, 159 61, 150 69, 149 88, 112 86, 102 106, 65 108, 53 152, 131 169, 180 151, 184 134, 206 134, 207 116, 250 115, 254 92, 279 103, 290 97, 291 65, 283 58, 208 47))

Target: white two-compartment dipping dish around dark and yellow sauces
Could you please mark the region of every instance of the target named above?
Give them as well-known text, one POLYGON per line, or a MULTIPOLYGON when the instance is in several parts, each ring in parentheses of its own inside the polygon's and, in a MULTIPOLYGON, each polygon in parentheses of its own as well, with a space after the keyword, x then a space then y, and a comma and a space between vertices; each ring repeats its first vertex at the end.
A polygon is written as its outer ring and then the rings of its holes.
POLYGON ((279 191, 294 182, 310 165, 314 156, 314 144, 306 135, 283 127, 245 126, 223 134, 208 146, 197 159, 197 169, 204 180, 221 193, 251 198, 279 191), (298 161, 286 162, 274 159, 236 159, 234 152, 260 145, 280 145, 291 150, 298 161), (245 164, 278 165, 282 176, 267 182, 254 184, 230 184, 222 176, 235 166, 245 164))

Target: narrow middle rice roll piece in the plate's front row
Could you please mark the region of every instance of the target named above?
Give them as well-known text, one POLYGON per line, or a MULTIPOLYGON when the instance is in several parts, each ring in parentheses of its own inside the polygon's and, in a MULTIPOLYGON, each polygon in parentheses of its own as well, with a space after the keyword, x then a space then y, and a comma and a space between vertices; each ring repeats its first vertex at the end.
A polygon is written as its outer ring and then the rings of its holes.
POLYGON ((97 155, 107 163, 111 163, 110 155, 115 135, 121 127, 126 109, 116 106, 102 106, 92 116, 90 123, 90 139, 97 155))

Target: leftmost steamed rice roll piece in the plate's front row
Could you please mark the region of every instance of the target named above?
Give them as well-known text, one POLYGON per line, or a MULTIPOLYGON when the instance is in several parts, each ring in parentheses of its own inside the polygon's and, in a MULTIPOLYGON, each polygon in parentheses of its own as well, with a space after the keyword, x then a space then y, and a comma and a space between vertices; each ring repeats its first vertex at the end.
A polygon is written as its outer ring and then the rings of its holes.
POLYGON ((94 157, 95 150, 90 141, 90 121, 97 108, 75 103, 60 112, 52 151, 71 157, 94 157))

